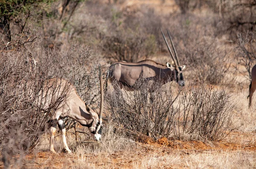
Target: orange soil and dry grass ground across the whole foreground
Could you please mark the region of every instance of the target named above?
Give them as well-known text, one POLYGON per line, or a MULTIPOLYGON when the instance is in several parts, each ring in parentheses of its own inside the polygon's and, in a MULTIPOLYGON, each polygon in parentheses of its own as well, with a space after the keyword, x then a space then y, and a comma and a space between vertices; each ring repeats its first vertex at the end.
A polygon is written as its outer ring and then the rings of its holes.
MULTIPOLYGON (((130 150, 105 153, 52 154, 49 151, 26 155, 25 168, 254 168, 254 132, 232 132, 223 141, 169 141, 136 143, 130 150)), ((92 143, 93 144, 93 143, 92 143)), ((0 164, 3 168, 3 164, 0 164)), ((15 168, 15 167, 14 167, 15 168)))

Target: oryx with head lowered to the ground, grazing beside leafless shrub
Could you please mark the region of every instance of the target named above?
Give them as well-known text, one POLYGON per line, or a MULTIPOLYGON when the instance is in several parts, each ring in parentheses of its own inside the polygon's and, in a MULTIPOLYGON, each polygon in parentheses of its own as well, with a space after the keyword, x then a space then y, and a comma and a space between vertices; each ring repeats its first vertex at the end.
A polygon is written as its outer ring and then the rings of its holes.
POLYGON ((56 153, 53 147, 53 140, 54 135, 56 132, 56 124, 58 124, 59 129, 61 130, 61 135, 64 143, 64 147, 67 150, 68 153, 70 153, 70 149, 67 146, 66 141, 66 130, 65 130, 65 124, 61 118, 64 117, 70 117, 74 120, 78 121, 82 126, 86 126, 89 128, 91 135, 93 138, 97 141, 101 138, 101 125, 102 125, 102 111, 103 111, 103 102, 104 102, 104 96, 103 96, 103 85, 102 85, 102 70, 99 65, 99 79, 100 79, 100 93, 101 93, 101 101, 100 101, 100 109, 99 109, 99 115, 94 112, 90 107, 84 103, 84 101, 79 97, 79 95, 76 92, 76 89, 73 85, 71 85, 69 82, 67 82, 64 79, 50 79, 47 82, 47 87, 49 90, 47 93, 44 93, 44 95, 48 95, 50 97, 47 98, 47 102, 51 102, 51 100, 57 100, 58 95, 61 94, 61 91, 64 91, 64 87, 69 86, 68 88, 68 96, 60 104, 60 108, 55 110, 55 112, 52 115, 51 118, 51 139, 50 139, 50 151, 53 153, 56 153), (51 89, 52 88, 52 89, 51 89), (58 89, 58 92, 55 92, 54 94, 51 93, 52 90, 58 89), (51 96, 52 94, 52 96, 51 96))

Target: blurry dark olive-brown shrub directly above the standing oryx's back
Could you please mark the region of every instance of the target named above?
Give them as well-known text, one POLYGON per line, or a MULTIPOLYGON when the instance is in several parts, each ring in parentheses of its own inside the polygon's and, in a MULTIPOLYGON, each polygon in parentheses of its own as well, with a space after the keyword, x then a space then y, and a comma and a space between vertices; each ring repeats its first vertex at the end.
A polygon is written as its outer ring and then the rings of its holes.
POLYGON ((105 57, 112 61, 138 62, 154 54, 156 44, 153 35, 143 36, 130 29, 106 37, 102 47, 105 57))

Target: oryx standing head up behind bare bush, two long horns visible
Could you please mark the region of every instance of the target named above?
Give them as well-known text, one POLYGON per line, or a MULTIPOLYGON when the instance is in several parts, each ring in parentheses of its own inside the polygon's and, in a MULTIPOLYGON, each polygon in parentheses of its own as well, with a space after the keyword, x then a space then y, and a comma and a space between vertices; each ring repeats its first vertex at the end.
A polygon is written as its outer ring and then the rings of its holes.
MULTIPOLYGON (((169 31, 167 30, 167 32, 172 43, 169 31)), ((134 90, 134 84, 136 84, 136 82, 140 78, 143 78, 146 82, 148 82, 149 87, 151 87, 151 85, 153 85, 154 82, 160 82, 162 85, 164 85, 167 82, 173 80, 175 80, 180 86, 184 86, 185 82, 183 79, 182 70, 184 70, 186 66, 183 65, 180 67, 180 62, 177 57, 177 53, 173 43, 172 48, 175 53, 175 58, 166 41, 164 34, 163 38, 172 56, 175 67, 170 65, 168 62, 166 63, 165 66, 152 60, 143 60, 137 63, 115 62, 109 67, 107 80, 109 78, 111 83, 117 82, 120 88, 125 87, 126 90, 134 90)))

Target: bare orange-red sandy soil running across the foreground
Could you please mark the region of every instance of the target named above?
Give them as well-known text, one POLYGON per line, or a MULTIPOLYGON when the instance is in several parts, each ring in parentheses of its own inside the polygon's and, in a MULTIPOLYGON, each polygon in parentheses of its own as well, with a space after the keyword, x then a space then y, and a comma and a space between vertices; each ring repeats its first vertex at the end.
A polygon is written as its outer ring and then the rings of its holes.
MULTIPOLYGON (((241 133, 232 132, 229 138, 225 141, 212 142, 210 144, 202 141, 179 141, 179 140, 168 140, 167 138, 160 138, 154 143, 137 143, 142 147, 140 151, 134 151, 134 154, 128 152, 119 151, 112 154, 108 154, 108 158, 104 155, 85 154, 84 158, 88 158, 88 161, 96 160, 96 166, 104 166, 109 163, 111 168, 131 168, 133 167, 134 161, 140 161, 140 157, 144 157, 151 153, 157 153, 157 155, 166 155, 173 152, 178 152, 180 155, 189 155, 191 153, 218 153, 221 151, 236 151, 242 150, 247 152, 256 152, 256 144, 253 142, 255 133, 241 133), (246 143, 242 142, 239 138, 252 138, 251 141, 246 143), (228 140, 236 141, 228 142, 228 140)), ((37 152, 26 155, 23 165, 26 168, 72 168, 79 160, 79 155, 59 153, 52 154, 50 152, 37 152)), ((3 168, 3 163, 0 163, 0 169, 3 168)))

